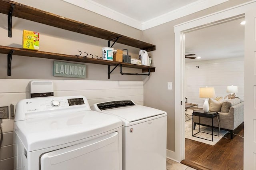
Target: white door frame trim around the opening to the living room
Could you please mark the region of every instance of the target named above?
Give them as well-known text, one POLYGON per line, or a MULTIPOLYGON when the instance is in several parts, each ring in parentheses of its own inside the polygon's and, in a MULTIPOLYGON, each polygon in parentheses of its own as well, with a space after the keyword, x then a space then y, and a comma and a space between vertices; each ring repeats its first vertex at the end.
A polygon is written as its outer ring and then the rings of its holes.
MULTIPOLYGON (((185 87, 184 87, 184 75, 185 75, 185 33, 218 24, 220 22, 226 22, 237 17, 244 16, 245 12, 250 9, 250 4, 255 3, 256 0, 246 2, 232 8, 228 8, 201 18, 197 18, 179 25, 174 26, 175 33, 175 152, 174 160, 178 162, 185 159, 185 117, 183 114, 185 111, 185 87)), ((245 16, 246 17, 246 16, 245 16)), ((245 47, 246 48, 246 47, 245 47)), ((245 82, 246 83, 246 82, 245 82)), ((244 113, 246 114, 246 113, 244 113)), ((246 147, 246 146, 244 146, 246 147)), ((244 155, 244 159, 250 155, 244 155)))

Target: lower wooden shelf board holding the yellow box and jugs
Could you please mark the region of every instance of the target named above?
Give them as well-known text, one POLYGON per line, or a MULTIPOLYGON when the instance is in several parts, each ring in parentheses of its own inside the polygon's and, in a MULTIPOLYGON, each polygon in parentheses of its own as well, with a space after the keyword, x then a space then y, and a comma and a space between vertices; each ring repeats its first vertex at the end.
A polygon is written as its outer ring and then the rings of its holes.
POLYGON ((82 63, 93 63, 93 64, 101 64, 101 65, 122 64, 122 67, 142 69, 142 72, 148 72, 148 69, 150 69, 150 72, 155 71, 155 67, 149 67, 149 66, 145 66, 145 65, 120 63, 120 62, 115 62, 115 61, 94 59, 94 58, 89 58, 89 57, 77 57, 76 55, 50 53, 50 52, 45 52, 45 51, 34 51, 34 50, 30 50, 30 49, 7 47, 7 46, 0 45, 0 53, 8 54, 8 53, 10 53, 11 50, 14 50, 13 55, 22 55, 22 56, 28 56, 28 57, 38 57, 38 58, 47 58, 47 59, 59 59, 59 60, 66 60, 66 61, 77 61, 77 62, 82 62, 82 63))

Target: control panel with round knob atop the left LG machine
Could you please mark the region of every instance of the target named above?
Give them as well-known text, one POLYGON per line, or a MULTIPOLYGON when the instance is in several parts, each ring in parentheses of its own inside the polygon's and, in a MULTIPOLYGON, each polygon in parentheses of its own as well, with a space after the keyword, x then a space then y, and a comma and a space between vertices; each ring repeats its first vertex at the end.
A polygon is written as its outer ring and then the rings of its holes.
POLYGON ((23 99, 16 105, 14 121, 42 117, 49 114, 60 114, 74 111, 91 110, 86 97, 42 97, 23 99), (72 110, 71 110, 72 109, 72 110))

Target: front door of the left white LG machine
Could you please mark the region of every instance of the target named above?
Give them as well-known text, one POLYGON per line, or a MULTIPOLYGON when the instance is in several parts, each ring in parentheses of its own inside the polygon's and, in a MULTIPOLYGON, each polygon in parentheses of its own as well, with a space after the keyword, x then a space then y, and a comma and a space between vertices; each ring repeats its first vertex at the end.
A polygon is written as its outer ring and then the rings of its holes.
MULTIPOLYGON (((43 154, 41 170, 119 170, 118 132, 43 154)), ((121 163, 121 162, 120 162, 121 163)))

